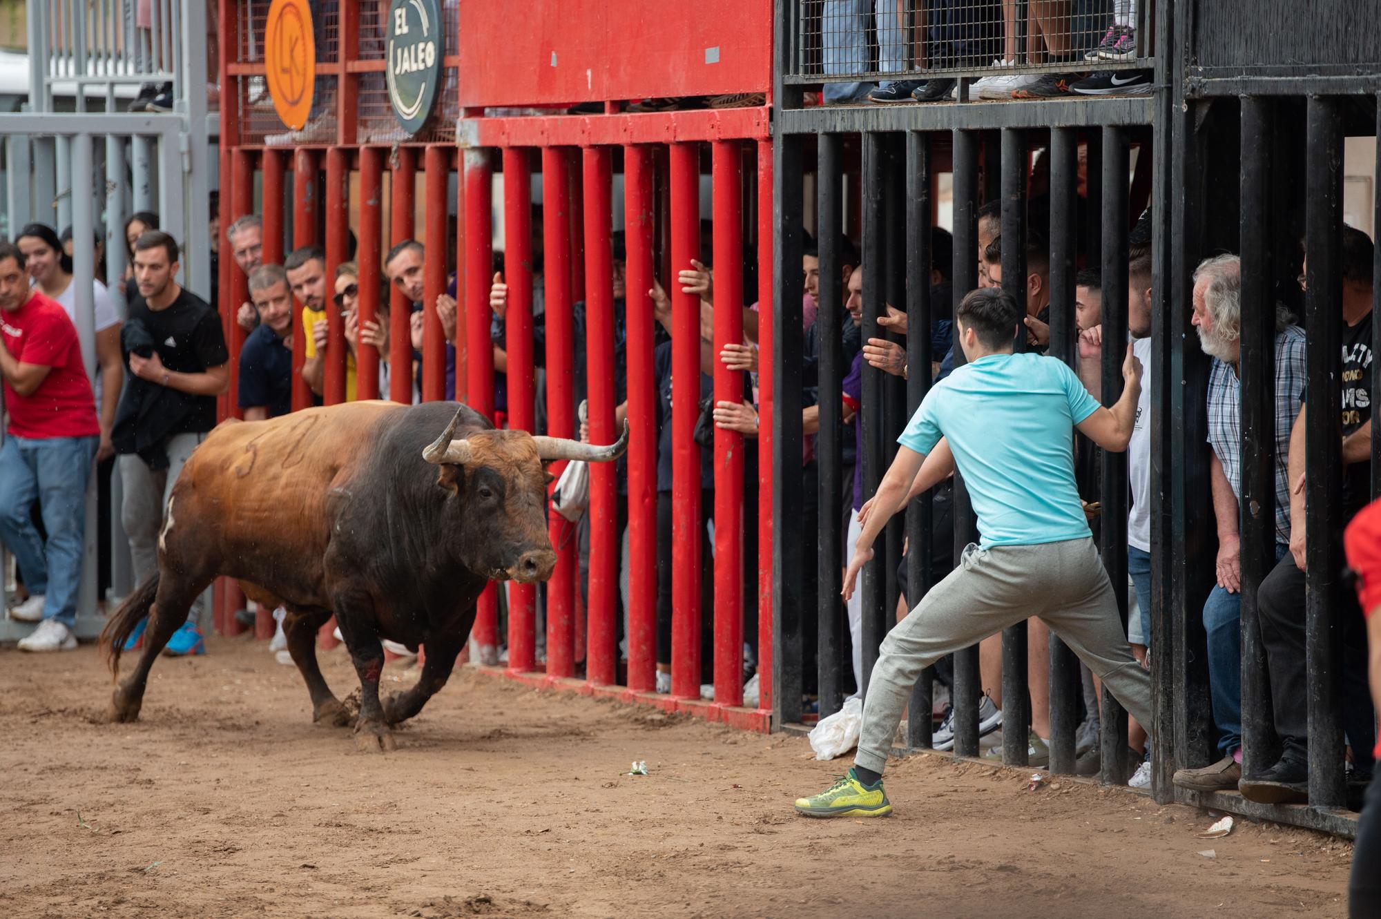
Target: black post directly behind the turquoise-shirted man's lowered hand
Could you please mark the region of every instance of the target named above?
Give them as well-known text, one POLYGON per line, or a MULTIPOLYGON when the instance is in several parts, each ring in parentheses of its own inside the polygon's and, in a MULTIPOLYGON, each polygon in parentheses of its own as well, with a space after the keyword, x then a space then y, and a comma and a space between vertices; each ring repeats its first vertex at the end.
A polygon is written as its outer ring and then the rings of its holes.
MULTIPOLYGON (((882 137, 877 132, 863 134, 863 341, 878 338, 877 317, 882 313, 884 273, 882 258, 882 171, 885 168, 882 137)), ((882 424, 882 375, 877 370, 863 363, 863 399, 859 408, 858 424, 863 425, 863 455, 858 462, 863 464, 863 498, 877 494, 877 486, 882 480, 884 458, 884 424, 882 424)), ((867 683, 873 678, 873 665, 877 662, 877 647, 882 640, 878 631, 881 622, 881 607, 887 600, 887 540, 880 538, 873 544, 873 560, 863 566, 863 693, 867 695, 867 683)), ((852 552, 852 548, 851 548, 852 552)))

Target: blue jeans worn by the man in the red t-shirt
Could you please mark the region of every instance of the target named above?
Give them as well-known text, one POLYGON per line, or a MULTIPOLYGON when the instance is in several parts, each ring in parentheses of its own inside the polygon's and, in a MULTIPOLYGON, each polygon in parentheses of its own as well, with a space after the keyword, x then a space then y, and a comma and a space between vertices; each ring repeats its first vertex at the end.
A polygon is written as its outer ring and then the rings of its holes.
POLYGON ((0 447, 0 540, 14 552, 30 593, 44 595, 43 617, 69 629, 77 620, 86 490, 95 437, 30 440, 8 435, 0 447), (47 544, 30 511, 43 515, 47 544))

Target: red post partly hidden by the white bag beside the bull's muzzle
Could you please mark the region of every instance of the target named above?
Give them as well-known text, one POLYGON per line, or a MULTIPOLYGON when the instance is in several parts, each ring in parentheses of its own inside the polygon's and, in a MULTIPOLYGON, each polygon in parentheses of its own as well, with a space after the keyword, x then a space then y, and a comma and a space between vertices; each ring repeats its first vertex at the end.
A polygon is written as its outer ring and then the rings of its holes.
MULTIPOLYGON (((576 436, 574 402, 574 333, 570 299, 570 201, 566 195, 566 150, 547 146, 541 150, 543 250, 547 293, 547 433, 554 437, 576 436)), ((559 477, 565 462, 551 464, 559 477)), ((555 486, 555 483, 552 483, 555 486)), ((574 592, 576 527, 548 509, 551 545, 557 567, 547 582, 547 676, 572 676, 576 672, 574 592)))

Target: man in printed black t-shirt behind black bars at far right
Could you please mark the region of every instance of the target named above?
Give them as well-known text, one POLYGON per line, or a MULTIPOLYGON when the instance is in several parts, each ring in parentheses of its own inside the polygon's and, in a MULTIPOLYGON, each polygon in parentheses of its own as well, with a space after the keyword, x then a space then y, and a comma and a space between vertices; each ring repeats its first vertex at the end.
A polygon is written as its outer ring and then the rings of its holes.
MULTIPOLYGON (((1342 527, 1371 498, 1371 240, 1362 230, 1342 228, 1342 353, 1340 360, 1342 519, 1330 520, 1333 535, 1342 541, 1342 527)), ((1302 279, 1302 276, 1301 276, 1302 279)), ((1305 400, 1308 393, 1301 396, 1305 400)), ((1316 410, 1323 407, 1316 406, 1316 410)), ((1305 406, 1290 429, 1290 482, 1305 471, 1305 406)), ((1352 747, 1358 775, 1371 773, 1375 722, 1367 695, 1367 642, 1356 595, 1340 592, 1337 611, 1342 629, 1342 726, 1352 747), (1345 593, 1345 596, 1344 596, 1345 593)), ((1257 591, 1261 642, 1266 649, 1271 701, 1280 759, 1259 775, 1243 775, 1239 791, 1248 800, 1286 803, 1308 800, 1309 690, 1305 669, 1305 505, 1304 493, 1291 488, 1290 552, 1265 577, 1257 591)))

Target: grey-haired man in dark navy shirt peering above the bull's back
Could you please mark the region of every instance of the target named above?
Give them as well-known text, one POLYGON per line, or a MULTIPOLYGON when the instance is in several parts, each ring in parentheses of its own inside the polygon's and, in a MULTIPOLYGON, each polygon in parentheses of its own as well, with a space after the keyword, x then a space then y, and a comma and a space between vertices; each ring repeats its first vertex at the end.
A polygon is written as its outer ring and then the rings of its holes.
POLYGON ((250 272, 250 299, 258 327, 240 349, 239 404, 244 421, 293 410, 293 294, 282 265, 250 272))

